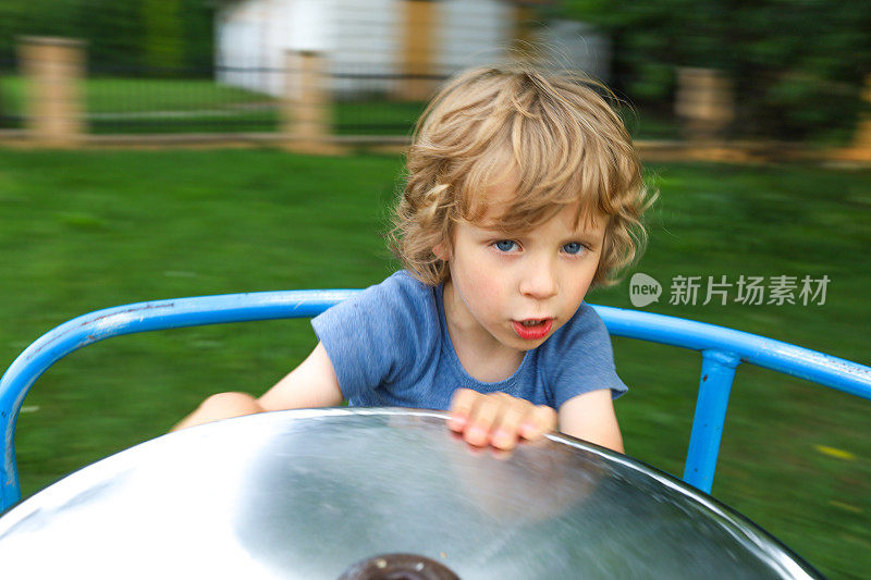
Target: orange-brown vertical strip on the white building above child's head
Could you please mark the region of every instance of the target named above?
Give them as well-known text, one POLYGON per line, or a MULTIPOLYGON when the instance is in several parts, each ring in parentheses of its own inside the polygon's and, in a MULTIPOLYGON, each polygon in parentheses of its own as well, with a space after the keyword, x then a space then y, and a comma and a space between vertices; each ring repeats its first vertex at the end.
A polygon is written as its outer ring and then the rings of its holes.
POLYGON ((402 42, 400 44, 400 71, 407 75, 398 83, 396 97, 402 100, 422 101, 436 88, 436 81, 420 75, 433 73, 436 54, 437 2, 432 0, 402 1, 402 42))

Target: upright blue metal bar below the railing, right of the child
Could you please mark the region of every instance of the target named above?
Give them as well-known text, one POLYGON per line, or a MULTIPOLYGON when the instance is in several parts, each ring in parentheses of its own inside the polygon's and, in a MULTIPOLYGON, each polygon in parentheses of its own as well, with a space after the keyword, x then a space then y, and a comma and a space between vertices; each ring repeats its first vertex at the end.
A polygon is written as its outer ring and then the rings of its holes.
POLYGON ((699 396, 692 418, 692 432, 689 435, 684 481, 711 493, 726 421, 728 395, 740 358, 732 353, 713 349, 702 350, 701 355, 699 396))

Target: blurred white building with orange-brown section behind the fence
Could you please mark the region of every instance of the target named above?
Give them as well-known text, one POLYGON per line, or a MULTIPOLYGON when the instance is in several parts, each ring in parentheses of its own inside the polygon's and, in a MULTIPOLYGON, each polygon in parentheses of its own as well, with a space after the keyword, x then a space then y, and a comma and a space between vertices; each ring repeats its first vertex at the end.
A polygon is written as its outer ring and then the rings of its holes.
MULTIPOLYGON (((545 0, 547 1, 547 0, 545 0)), ((539 2, 545 3, 545 2, 539 2)), ((281 95, 286 51, 327 58, 338 95, 402 92, 396 77, 447 75, 503 59, 518 39, 561 64, 606 76, 603 37, 578 23, 535 22, 508 0, 223 0, 216 16, 219 81, 281 95), (541 48, 541 47, 540 47, 541 48), (372 75, 373 77, 366 77, 372 75)))

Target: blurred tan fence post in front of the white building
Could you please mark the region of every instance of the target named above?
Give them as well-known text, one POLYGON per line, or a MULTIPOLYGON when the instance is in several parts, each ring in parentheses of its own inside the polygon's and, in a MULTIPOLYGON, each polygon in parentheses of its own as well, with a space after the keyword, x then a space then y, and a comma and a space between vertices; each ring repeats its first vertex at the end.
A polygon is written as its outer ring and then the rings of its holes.
POLYGON ((315 155, 335 155, 331 144, 330 99, 324 87, 324 59, 315 51, 289 50, 284 53, 285 83, 282 129, 286 148, 315 155))

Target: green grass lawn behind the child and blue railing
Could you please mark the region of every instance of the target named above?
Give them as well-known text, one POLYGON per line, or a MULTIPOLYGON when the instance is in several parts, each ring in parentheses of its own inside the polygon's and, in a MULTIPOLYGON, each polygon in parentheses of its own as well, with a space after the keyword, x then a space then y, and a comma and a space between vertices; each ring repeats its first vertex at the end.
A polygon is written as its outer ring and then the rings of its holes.
MULTIPOLYGON (((280 288, 361 287, 394 263, 380 233, 394 157, 272 150, 0 150, 0 368, 52 326, 147 299, 280 288)), ((869 363, 871 173, 802 166, 648 168, 661 201, 638 271, 827 274, 822 306, 647 308, 869 363)), ((627 285, 589 300, 629 307, 627 285)), ((157 436, 208 394, 260 393, 314 346, 306 321, 118 337, 51 368, 25 400, 25 494, 157 436)), ((627 452, 675 474, 695 406, 696 353, 614 341, 630 386, 617 403, 627 452)), ((714 495, 834 578, 871 567, 869 402, 738 369, 714 495), (818 446, 847 452, 835 457, 818 446)))

